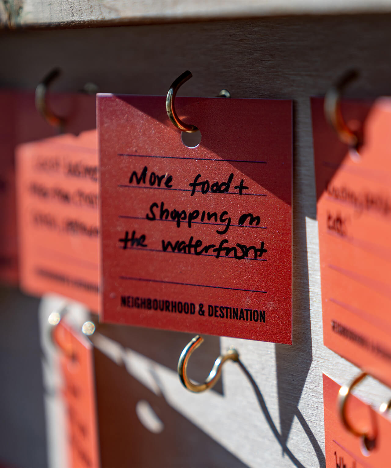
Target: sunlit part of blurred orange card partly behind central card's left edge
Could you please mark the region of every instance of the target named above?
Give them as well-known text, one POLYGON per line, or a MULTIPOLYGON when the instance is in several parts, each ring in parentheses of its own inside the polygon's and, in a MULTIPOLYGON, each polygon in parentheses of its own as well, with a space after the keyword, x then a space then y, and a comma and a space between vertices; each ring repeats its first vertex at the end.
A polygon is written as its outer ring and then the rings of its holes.
POLYGON ((17 158, 20 284, 98 310, 96 130, 20 145, 17 158))

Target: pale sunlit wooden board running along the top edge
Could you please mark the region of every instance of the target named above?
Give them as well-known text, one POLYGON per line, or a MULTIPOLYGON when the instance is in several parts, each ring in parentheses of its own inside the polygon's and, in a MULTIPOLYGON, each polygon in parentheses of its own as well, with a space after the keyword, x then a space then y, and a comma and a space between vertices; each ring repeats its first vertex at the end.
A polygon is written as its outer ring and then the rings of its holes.
POLYGON ((0 27, 89 27, 390 11, 390 0, 3 0, 0 27))

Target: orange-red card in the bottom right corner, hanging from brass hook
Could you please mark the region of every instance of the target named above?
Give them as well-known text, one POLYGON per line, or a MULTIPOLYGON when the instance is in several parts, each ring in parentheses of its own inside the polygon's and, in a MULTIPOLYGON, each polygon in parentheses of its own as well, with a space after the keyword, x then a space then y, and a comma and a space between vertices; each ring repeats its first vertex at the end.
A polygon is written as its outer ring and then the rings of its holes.
POLYGON ((390 466, 391 421, 353 395, 347 403, 347 417, 358 431, 376 435, 375 447, 366 450, 362 438, 345 428, 340 420, 337 398, 340 385, 323 374, 326 468, 385 468, 390 466))

